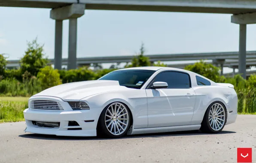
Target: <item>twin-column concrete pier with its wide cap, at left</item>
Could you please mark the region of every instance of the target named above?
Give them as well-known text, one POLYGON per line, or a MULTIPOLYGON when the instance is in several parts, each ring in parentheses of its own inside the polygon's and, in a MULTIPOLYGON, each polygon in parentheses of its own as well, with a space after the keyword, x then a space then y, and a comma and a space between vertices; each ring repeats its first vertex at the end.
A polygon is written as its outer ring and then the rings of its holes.
MULTIPOLYGON (((69 6, 52 9, 50 12, 50 17, 52 19, 61 20, 61 21, 69 19, 67 69, 76 69, 76 66, 77 66, 76 65, 77 18, 84 15, 84 13, 85 13, 85 4, 82 4, 82 3, 73 3, 69 6)), ((55 38, 55 40, 56 40, 56 38, 55 38)), ((57 43, 55 41, 55 51, 58 51, 56 49, 56 44, 57 43)), ((60 44, 62 46, 62 42, 60 44)), ((57 56, 57 52, 55 52, 55 57, 56 56, 57 56)), ((59 57, 59 53, 58 53, 57 57, 59 57)), ((58 62, 58 60, 56 60, 56 62, 58 62)), ((59 64, 59 62, 57 64, 59 64)), ((58 65, 58 67, 59 67, 59 65, 58 65)))

